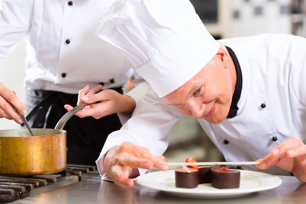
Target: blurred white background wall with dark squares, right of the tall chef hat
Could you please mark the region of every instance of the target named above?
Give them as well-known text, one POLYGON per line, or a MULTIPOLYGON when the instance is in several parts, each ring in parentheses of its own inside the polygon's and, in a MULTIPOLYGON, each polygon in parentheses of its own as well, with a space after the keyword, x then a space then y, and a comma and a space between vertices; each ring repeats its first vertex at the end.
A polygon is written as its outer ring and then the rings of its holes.
POLYGON ((219 24, 205 24, 221 38, 291 33, 290 0, 219 0, 219 24), (258 14, 257 9, 261 10, 258 14), (256 14, 257 13, 257 14, 256 14))

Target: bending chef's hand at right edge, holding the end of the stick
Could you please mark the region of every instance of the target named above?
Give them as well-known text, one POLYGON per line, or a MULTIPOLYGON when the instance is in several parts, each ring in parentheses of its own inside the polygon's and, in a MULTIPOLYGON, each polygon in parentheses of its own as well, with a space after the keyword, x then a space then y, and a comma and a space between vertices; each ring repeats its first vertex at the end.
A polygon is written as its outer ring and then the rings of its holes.
POLYGON ((277 165, 293 175, 300 181, 306 182, 306 145, 297 137, 286 139, 256 165, 260 169, 268 169, 277 165))

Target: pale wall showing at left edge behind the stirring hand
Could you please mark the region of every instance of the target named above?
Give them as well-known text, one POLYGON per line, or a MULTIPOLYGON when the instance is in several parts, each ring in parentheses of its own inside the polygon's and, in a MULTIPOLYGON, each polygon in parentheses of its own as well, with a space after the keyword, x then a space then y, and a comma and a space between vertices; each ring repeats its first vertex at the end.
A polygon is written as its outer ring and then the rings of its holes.
MULTIPOLYGON (((25 76, 25 42, 22 40, 8 58, 0 58, 0 82, 24 101, 23 79, 25 76)), ((14 120, 0 118, 0 130, 19 128, 14 120)))

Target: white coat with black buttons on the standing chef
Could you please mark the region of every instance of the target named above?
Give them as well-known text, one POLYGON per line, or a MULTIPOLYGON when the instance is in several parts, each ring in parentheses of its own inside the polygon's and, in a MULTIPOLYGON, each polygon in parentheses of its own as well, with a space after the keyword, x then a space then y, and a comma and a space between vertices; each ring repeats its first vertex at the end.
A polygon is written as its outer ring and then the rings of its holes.
POLYGON ((130 62, 94 37, 114 1, 0 0, 0 57, 25 37, 27 88, 78 93, 101 82, 104 89, 121 87, 133 73, 130 62))

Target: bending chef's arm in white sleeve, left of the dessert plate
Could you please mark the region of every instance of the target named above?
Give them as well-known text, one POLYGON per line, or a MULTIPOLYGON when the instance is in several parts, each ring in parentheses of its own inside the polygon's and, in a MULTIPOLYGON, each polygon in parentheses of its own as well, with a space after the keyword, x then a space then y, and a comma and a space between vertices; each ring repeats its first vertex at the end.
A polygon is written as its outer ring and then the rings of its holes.
POLYGON ((139 174, 147 172, 153 166, 165 169, 161 155, 168 147, 168 134, 180 115, 175 107, 165 104, 150 88, 136 105, 131 119, 119 131, 108 136, 96 161, 100 175, 104 177, 107 173, 112 180, 127 186, 132 182, 128 180, 132 168, 138 168, 139 174), (120 160, 122 158, 123 161, 120 160), (113 169, 112 166, 126 161, 130 162, 125 166, 129 171, 120 171, 124 172, 120 174, 121 177, 124 176, 121 183, 120 177, 114 173, 118 168, 113 169))

